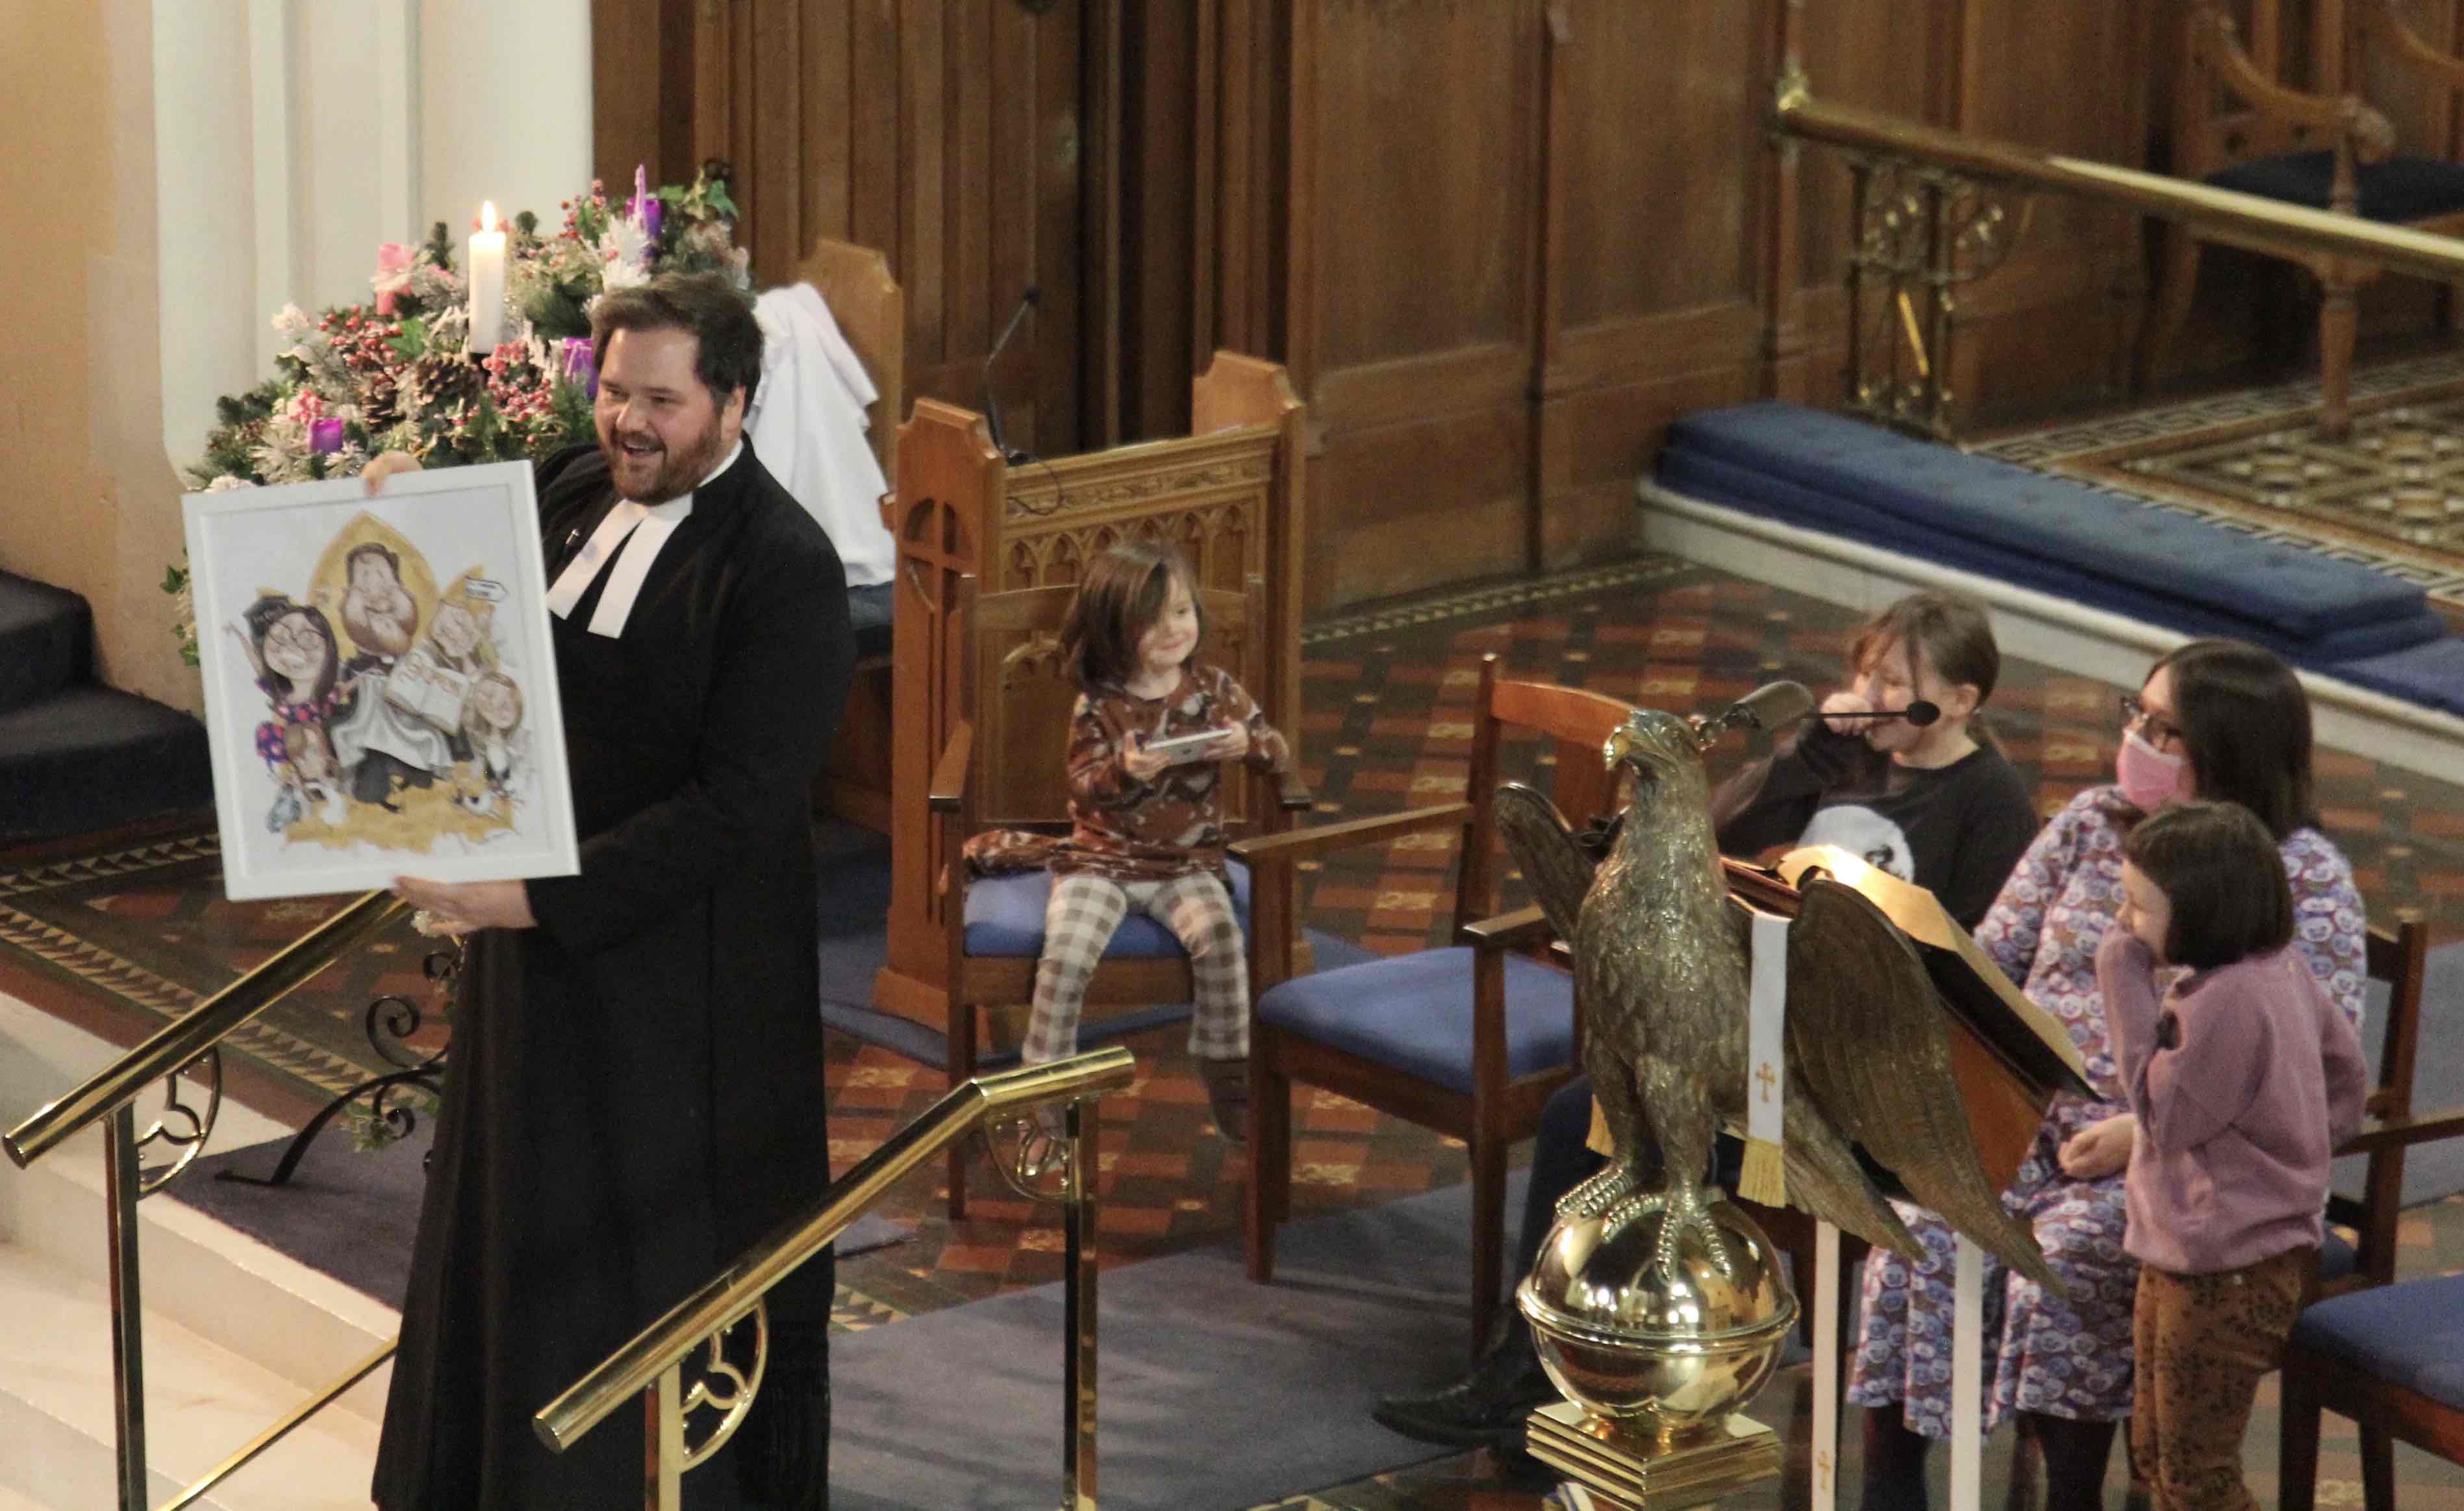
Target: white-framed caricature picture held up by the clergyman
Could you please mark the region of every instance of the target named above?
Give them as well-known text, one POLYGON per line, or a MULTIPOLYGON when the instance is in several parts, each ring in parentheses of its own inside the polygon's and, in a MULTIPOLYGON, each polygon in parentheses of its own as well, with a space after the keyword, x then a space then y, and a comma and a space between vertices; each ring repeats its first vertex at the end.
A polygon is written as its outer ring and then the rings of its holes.
POLYGON ((579 870, 527 463, 182 513, 229 897, 579 870))

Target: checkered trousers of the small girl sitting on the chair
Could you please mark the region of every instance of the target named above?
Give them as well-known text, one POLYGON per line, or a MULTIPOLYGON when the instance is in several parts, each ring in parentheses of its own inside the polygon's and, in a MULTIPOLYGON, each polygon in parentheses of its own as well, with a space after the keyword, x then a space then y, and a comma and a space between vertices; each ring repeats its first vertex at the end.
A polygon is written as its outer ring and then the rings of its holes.
POLYGON ((1249 961, 1242 954, 1232 895, 1212 870, 1168 882, 1116 882, 1101 875, 1052 878, 1045 905, 1045 956, 1035 966, 1035 1016, 1020 1057, 1027 1065, 1067 1060, 1077 1053, 1077 1020, 1087 1006, 1087 979, 1111 934, 1136 907, 1180 939, 1198 979, 1198 1013, 1190 1018, 1190 1055, 1200 1060, 1249 1057, 1249 961))

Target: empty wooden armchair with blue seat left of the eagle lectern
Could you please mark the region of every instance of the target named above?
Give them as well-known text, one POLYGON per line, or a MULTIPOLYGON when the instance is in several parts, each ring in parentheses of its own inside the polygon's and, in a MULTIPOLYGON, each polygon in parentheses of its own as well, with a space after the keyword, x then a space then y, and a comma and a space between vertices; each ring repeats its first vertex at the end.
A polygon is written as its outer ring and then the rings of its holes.
POLYGON ((1609 806, 1599 747, 1634 710, 1599 693, 1518 683, 1481 661, 1471 776, 1461 801, 1326 823, 1232 845, 1252 865, 1249 1279, 1274 1279, 1274 1225, 1291 1205, 1291 1082, 1308 1082, 1461 1139, 1471 1151, 1471 1346, 1488 1338, 1503 1279, 1506 1151, 1567 1082, 1574 981, 1545 954, 1538 907, 1496 910, 1493 799, 1506 730, 1555 749, 1552 799, 1582 821, 1609 806), (1296 865, 1358 845, 1456 836, 1454 944, 1296 974, 1296 865))

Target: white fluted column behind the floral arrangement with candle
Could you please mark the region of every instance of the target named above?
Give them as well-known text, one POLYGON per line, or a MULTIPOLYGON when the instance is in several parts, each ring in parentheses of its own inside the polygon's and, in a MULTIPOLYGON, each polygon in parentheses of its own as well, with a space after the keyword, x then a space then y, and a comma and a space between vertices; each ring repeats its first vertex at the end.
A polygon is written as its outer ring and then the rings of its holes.
MULTIPOLYGON (((145 0, 138 0, 145 2, 145 0)), ((370 298, 377 244, 591 177, 589 0, 150 0, 163 446, 274 375, 271 318, 370 298)))

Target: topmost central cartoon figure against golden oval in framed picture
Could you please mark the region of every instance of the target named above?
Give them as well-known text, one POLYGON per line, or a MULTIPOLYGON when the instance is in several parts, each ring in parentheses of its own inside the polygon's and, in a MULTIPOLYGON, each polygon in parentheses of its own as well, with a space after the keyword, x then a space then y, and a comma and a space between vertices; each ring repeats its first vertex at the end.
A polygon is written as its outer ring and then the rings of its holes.
POLYGON ((409 658, 419 604, 402 584, 402 557, 367 542, 345 572, 342 629, 362 646, 350 658, 350 712, 330 727, 333 754, 350 767, 350 796, 399 813, 397 786, 434 786, 451 772, 448 730, 461 725, 461 688, 439 690, 409 658))

